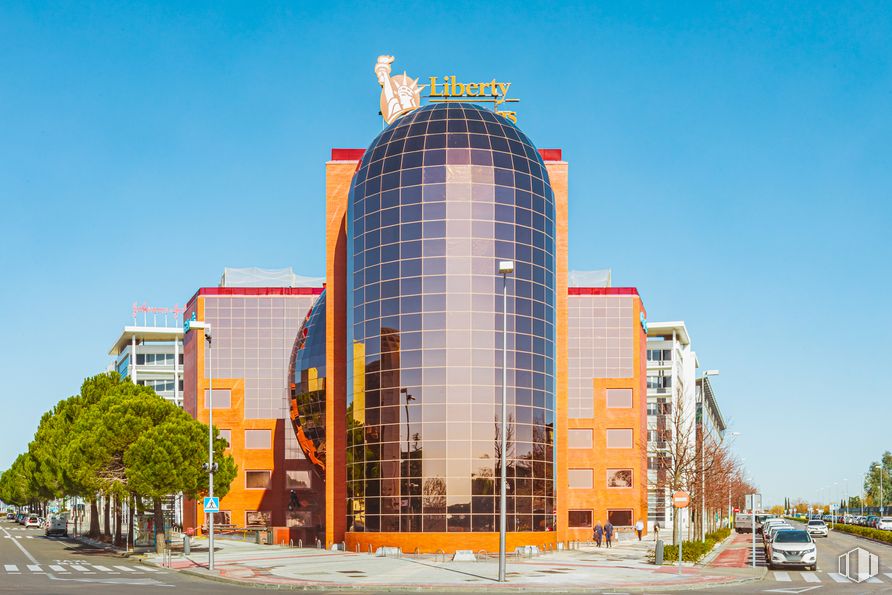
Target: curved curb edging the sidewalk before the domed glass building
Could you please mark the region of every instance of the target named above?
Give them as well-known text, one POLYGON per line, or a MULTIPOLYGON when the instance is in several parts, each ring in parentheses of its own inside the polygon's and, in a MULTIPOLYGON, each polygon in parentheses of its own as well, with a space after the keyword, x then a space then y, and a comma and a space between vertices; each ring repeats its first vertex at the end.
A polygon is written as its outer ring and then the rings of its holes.
POLYGON ((585 587, 575 587, 575 586, 567 586, 567 587, 545 587, 543 585, 524 585, 524 586, 514 586, 514 585, 504 585, 500 586, 498 583, 493 581, 491 585, 450 585, 450 584, 441 584, 441 585, 423 585, 423 584, 405 584, 405 585, 351 585, 351 584, 340 584, 340 583, 331 583, 331 584, 275 584, 275 583, 263 583, 257 582, 250 579, 240 579, 240 578, 232 578, 228 576, 221 576, 219 574, 211 574, 207 570, 198 570, 193 568, 167 568, 166 566, 159 566, 158 564, 151 563, 147 560, 140 560, 140 564, 145 564, 146 566, 152 566, 156 568, 164 568, 166 570, 173 570, 182 574, 186 574, 189 576, 194 576, 197 578, 202 578, 209 581, 214 581, 218 583, 224 583, 229 585, 236 585, 239 587, 248 587, 253 589, 271 589, 277 591, 305 591, 305 592, 322 592, 322 593, 330 593, 333 590, 336 591, 355 591, 357 593, 362 592, 374 592, 380 593, 382 590, 386 590, 387 592, 436 592, 436 593, 479 593, 482 590, 486 591, 495 591, 498 590, 503 593, 592 593, 595 591, 601 592, 634 592, 634 593, 646 593, 653 591, 694 591, 694 590, 704 590, 704 589, 714 589, 719 587, 729 587, 734 585, 742 585, 747 583, 754 583, 757 581, 761 581, 765 578, 767 573, 767 569, 760 568, 762 571, 759 576, 747 576, 740 577, 733 580, 722 581, 720 583, 686 583, 679 585, 672 584, 650 584, 650 585, 604 585, 600 587, 598 585, 589 585, 585 587))

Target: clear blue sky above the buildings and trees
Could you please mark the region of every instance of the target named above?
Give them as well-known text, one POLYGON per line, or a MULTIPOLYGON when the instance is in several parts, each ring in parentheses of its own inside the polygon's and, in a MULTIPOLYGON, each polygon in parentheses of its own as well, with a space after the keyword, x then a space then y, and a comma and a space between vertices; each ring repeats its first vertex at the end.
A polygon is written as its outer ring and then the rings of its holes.
POLYGON ((389 53, 513 83, 571 268, 687 322, 767 501, 854 493, 890 447, 892 8, 720 4, 4 2, 0 468, 133 302, 323 274, 323 164, 380 130, 389 53))

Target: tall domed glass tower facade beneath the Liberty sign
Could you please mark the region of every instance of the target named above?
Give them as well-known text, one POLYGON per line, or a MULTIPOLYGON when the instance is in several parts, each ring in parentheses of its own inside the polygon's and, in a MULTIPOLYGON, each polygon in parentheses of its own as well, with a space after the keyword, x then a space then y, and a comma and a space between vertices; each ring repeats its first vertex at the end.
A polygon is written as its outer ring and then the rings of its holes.
POLYGON ((555 207, 516 126, 433 104, 384 130, 347 212, 348 531, 498 531, 502 276, 508 530, 553 529, 555 207))

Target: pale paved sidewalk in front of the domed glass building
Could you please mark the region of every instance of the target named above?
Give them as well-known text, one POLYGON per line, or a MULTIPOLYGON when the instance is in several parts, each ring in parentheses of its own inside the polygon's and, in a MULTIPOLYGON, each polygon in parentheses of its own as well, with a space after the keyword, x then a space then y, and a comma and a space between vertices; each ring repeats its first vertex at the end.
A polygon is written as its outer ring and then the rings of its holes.
MULTIPOLYGON (((369 554, 311 548, 260 546, 218 539, 215 570, 207 570, 207 541, 195 540, 192 554, 174 556, 177 570, 225 582, 284 588, 370 589, 380 591, 448 590, 476 592, 482 587, 505 591, 583 592, 592 589, 643 591, 692 589, 760 580, 764 573, 748 568, 674 566, 646 562, 653 542, 623 542, 610 550, 583 546, 532 559, 509 559, 507 584, 497 582, 498 560, 437 561, 433 556, 378 558, 369 554)), ((160 566, 150 555, 144 563, 160 566)))

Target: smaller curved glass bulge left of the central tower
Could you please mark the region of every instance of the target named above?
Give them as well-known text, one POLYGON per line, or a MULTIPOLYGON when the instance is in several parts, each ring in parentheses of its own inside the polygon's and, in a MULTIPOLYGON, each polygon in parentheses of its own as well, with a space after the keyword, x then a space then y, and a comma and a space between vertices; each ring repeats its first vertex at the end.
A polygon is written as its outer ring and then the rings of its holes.
POLYGON ((304 454, 325 469, 325 291, 313 303, 291 352, 291 424, 304 454))

